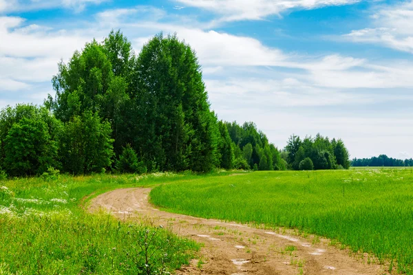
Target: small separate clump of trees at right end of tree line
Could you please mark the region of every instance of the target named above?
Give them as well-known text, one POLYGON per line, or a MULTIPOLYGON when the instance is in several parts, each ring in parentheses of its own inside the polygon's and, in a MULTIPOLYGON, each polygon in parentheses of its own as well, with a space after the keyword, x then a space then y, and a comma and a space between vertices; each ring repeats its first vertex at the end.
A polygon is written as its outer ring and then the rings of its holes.
POLYGON ((282 152, 293 170, 348 169, 350 155, 342 140, 329 140, 317 134, 315 137, 305 137, 301 140, 297 135, 291 135, 288 144, 282 152))

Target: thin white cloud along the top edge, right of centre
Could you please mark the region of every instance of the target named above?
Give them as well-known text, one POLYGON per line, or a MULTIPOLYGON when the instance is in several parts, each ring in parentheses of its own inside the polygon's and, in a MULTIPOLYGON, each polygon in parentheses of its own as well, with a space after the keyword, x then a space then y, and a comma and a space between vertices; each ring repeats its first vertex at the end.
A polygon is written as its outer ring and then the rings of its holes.
POLYGON ((176 0, 184 5, 210 10, 221 21, 261 20, 293 8, 314 9, 328 5, 347 5, 360 0, 176 0))

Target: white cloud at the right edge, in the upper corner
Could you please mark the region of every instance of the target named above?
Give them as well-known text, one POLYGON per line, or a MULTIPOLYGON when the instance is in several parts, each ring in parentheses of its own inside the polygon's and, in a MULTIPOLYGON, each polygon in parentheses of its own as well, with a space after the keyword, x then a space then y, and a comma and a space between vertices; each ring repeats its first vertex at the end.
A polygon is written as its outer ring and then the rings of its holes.
POLYGON ((343 38, 413 53, 413 1, 383 5, 372 14, 371 19, 371 28, 352 30, 343 38))

